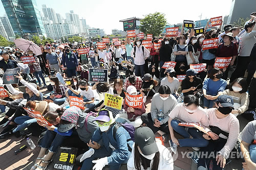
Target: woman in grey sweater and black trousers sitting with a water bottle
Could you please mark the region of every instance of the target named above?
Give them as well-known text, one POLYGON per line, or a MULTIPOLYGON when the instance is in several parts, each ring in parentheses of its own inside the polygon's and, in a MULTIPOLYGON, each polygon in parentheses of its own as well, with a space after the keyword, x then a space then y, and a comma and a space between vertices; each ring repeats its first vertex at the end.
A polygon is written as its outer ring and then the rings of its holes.
POLYGON ((164 142, 169 138, 168 128, 168 114, 177 105, 177 100, 173 95, 170 95, 170 88, 167 85, 161 85, 158 93, 152 98, 151 113, 144 113, 141 116, 143 123, 145 123, 154 133, 159 133, 163 136, 164 142), (163 117, 160 115, 163 113, 163 117))

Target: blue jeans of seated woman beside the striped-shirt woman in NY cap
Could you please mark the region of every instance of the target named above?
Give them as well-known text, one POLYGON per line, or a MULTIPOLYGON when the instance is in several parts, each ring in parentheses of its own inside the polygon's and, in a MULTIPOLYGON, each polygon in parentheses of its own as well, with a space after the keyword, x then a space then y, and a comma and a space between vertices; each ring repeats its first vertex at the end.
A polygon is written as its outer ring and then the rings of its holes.
POLYGON ((196 128, 189 128, 188 131, 185 130, 184 127, 179 126, 179 120, 172 120, 170 125, 172 128, 182 135, 185 139, 178 139, 180 143, 180 147, 206 147, 208 145, 208 140, 203 138, 203 133, 197 130, 196 128), (190 139, 189 136, 192 136, 193 139, 190 139))

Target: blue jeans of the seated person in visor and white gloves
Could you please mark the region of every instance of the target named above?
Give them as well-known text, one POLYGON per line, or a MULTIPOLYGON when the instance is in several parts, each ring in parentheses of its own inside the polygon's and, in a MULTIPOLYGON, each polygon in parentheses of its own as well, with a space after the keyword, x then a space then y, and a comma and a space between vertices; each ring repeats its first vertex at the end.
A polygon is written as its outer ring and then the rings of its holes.
MULTIPOLYGON (((98 150, 94 150, 94 154, 90 158, 87 158, 83 161, 81 170, 92 169, 92 167, 93 167, 92 161, 93 160, 97 160, 98 158, 108 157, 108 156, 111 156, 112 154, 117 154, 117 152, 118 152, 118 150, 114 150, 112 153, 108 152, 105 149, 105 147, 102 147, 101 149, 98 149, 98 150)), ((129 152, 127 160, 129 159, 130 155, 131 155, 131 152, 129 152)), ((122 163, 127 163, 127 160, 125 160, 122 163)), ((109 164, 110 169, 119 169, 120 165, 121 165, 120 163, 109 164)))

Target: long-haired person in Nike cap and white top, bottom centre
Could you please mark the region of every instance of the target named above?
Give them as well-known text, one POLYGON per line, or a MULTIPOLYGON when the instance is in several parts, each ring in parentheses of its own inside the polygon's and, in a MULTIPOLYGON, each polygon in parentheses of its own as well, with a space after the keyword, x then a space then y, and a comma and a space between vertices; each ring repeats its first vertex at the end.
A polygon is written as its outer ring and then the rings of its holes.
POLYGON ((128 170, 174 169, 172 153, 162 143, 156 142, 155 134, 150 128, 140 127, 136 129, 134 137, 135 143, 132 154, 127 161, 128 170))

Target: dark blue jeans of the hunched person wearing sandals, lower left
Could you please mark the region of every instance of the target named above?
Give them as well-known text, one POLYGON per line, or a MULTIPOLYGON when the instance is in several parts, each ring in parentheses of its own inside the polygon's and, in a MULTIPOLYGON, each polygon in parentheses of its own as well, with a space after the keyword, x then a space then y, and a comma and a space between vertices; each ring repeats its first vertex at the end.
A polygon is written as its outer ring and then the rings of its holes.
POLYGON ((42 138, 39 147, 49 149, 50 152, 56 152, 62 141, 68 136, 62 136, 54 131, 46 131, 45 136, 42 138))

